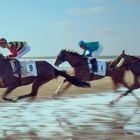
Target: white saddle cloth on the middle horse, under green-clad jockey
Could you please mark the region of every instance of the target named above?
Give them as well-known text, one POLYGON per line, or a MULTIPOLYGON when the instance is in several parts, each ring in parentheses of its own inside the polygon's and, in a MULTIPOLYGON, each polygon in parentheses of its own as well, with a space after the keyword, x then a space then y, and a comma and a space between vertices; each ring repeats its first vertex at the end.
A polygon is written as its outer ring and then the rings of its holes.
MULTIPOLYGON (((92 64, 91 62, 88 63, 89 70, 92 73, 92 64)), ((98 61, 97 60, 97 72, 94 72, 94 74, 105 76, 106 75, 106 62, 105 61, 98 61)))

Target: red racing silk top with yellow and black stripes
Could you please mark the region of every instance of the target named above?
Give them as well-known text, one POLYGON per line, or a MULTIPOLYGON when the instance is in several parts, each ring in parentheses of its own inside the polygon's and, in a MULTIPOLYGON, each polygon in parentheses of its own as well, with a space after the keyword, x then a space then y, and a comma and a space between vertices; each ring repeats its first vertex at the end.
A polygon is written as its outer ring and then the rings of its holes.
POLYGON ((9 58, 16 57, 17 52, 20 51, 23 47, 26 46, 26 42, 8 42, 7 48, 10 50, 11 54, 8 56, 9 58))

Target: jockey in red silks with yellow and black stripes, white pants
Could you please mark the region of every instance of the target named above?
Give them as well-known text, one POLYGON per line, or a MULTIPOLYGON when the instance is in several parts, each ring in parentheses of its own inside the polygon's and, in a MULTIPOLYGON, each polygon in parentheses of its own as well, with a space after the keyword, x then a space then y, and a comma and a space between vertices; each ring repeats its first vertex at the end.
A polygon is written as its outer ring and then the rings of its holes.
POLYGON ((6 58, 19 59, 30 51, 30 46, 25 41, 7 42, 5 38, 0 38, 0 46, 2 48, 7 48, 11 52, 11 54, 6 56, 6 58))

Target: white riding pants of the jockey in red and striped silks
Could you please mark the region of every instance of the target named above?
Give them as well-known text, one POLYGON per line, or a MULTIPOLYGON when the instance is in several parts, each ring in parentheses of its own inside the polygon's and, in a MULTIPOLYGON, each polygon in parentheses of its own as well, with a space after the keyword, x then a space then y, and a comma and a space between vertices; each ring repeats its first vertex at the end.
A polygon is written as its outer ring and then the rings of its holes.
POLYGON ((17 52, 16 58, 17 59, 21 58, 23 55, 25 55, 29 51, 30 51, 30 46, 26 44, 26 46, 24 46, 20 51, 17 52))

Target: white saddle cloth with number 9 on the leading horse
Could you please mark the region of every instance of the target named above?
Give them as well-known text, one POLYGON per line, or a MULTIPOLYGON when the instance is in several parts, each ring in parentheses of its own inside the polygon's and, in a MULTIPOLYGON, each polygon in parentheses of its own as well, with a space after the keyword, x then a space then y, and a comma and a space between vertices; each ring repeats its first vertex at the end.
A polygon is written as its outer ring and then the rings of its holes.
MULTIPOLYGON (((15 70, 15 63, 11 60, 10 61, 11 67, 13 71, 15 70)), ((36 62, 34 60, 29 61, 20 61, 21 64, 21 78, 29 77, 29 76, 37 76, 37 68, 36 62)), ((16 77, 17 74, 14 73, 16 77)))

